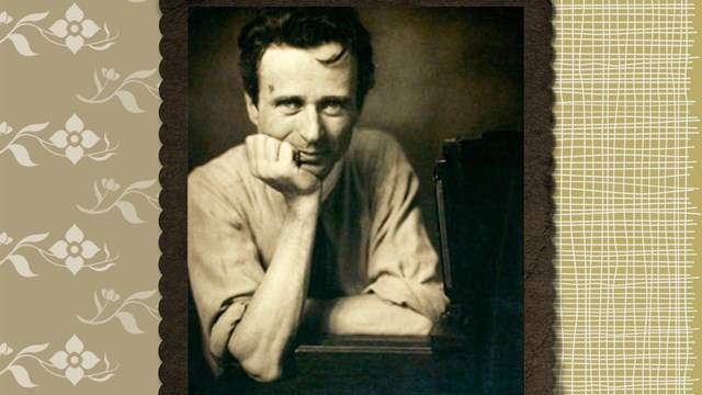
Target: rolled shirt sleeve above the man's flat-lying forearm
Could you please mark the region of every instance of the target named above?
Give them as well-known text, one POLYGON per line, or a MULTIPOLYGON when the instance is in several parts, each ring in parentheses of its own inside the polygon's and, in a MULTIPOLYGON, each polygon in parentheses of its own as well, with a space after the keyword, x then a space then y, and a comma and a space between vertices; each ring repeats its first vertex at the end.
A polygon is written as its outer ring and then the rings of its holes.
POLYGON ((375 157, 369 274, 365 293, 435 321, 449 304, 417 203, 419 179, 399 144, 386 137, 375 157))

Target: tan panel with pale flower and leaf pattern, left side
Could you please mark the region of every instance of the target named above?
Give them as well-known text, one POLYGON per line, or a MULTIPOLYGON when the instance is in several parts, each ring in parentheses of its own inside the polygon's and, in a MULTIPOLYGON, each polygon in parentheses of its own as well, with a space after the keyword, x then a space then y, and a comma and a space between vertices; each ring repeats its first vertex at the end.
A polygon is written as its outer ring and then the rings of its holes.
POLYGON ((158 4, 0 4, 2 395, 160 387, 158 4))

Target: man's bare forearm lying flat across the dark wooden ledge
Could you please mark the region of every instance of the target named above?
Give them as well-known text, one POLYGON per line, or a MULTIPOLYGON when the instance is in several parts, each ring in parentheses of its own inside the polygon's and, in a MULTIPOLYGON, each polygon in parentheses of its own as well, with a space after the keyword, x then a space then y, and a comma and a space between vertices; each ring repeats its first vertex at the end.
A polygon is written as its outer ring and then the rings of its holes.
POLYGON ((433 323, 374 294, 308 300, 305 329, 333 335, 428 335, 433 323))

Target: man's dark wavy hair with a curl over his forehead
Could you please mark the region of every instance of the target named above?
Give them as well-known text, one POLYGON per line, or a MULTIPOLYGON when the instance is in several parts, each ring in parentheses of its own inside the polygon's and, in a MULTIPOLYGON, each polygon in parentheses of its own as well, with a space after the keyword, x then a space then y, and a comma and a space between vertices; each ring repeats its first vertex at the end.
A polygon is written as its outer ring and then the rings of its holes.
POLYGON ((267 8, 260 10, 239 34, 239 70, 244 90, 253 103, 259 101, 259 65, 271 45, 312 48, 338 43, 342 49, 324 64, 333 64, 349 52, 356 60, 356 105, 361 110, 373 87, 371 34, 351 8, 267 8))

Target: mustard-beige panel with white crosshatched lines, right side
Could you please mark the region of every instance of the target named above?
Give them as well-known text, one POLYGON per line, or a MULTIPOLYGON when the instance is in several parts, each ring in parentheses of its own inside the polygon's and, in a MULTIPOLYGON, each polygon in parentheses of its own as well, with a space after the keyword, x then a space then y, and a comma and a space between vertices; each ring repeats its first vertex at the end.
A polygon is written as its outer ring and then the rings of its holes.
POLYGON ((554 7, 556 392, 692 394, 694 2, 554 7))

